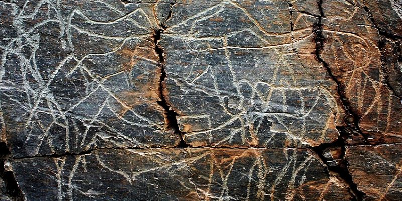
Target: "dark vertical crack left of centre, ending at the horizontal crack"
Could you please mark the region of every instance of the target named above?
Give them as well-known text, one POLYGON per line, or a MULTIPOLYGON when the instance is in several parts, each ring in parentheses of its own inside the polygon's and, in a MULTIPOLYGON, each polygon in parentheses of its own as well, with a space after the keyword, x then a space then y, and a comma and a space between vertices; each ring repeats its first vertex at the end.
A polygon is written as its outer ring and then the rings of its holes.
MULTIPOLYGON (((171 15, 171 14, 170 14, 171 15)), ((164 50, 158 44, 159 40, 161 39, 161 35, 166 30, 166 26, 161 24, 161 28, 155 30, 153 39, 154 39, 154 46, 155 52, 158 55, 159 61, 158 65, 161 70, 160 78, 159 78, 159 97, 160 100, 157 101, 159 106, 161 106, 164 110, 164 117, 165 117, 165 126, 167 129, 171 129, 174 131, 176 135, 179 136, 180 141, 179 144, 176 146, 177 148, 186 148, 189 145, 184 141, 184 132, 180 131, 180 127, 177 121, 178 114, 173 110, 171 105, 167 101, 166 97, 166 86, 165 86, 165 79, 166 79, 166 70, 165 70, 165 58, 164 58, 164 50)))

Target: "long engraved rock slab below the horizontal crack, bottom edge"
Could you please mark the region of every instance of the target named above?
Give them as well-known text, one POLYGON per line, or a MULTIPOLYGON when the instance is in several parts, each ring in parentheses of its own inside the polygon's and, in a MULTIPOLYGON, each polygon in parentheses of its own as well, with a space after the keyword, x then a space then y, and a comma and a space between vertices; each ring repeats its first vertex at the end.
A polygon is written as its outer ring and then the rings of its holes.
POLYGON ((311 151, 301 149, 103 149, 17 159, 13 168, 31 172, 17 176, 29 200, 352 198, 311 151), (37 186, 38 180, 47 185, 37 186))

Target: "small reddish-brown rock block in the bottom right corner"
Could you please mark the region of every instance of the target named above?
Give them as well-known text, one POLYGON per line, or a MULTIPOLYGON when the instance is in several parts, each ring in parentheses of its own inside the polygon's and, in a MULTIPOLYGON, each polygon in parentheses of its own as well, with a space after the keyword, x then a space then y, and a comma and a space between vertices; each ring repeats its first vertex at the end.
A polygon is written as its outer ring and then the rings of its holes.
POLYGON ((402 188, 402 144, 350 146, 349 171, 365 200, 398 200, 402 188))

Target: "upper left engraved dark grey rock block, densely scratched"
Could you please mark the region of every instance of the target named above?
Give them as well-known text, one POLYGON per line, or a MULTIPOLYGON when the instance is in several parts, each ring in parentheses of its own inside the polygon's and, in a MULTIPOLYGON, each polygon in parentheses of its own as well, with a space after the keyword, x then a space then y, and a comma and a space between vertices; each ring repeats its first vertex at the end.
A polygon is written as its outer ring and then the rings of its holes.
POLYGON ((153 4, 2 4, 15 9, 0 94, 15 157, 178 143, 157 104, 153 4))

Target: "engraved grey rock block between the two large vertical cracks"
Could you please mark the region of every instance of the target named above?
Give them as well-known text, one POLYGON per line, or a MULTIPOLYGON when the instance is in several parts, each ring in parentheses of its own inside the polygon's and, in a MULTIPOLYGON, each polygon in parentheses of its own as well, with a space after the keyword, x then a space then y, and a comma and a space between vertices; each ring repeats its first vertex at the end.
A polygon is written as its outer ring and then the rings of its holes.
POLYGON ((308 147, 337 139, 343 109, 336 83, 313 55, 317 18, 299 22, 291 12, 297 7, 284 1, 182 7, 172 10, 160 44, 166 96, 186 142, 308 147))

